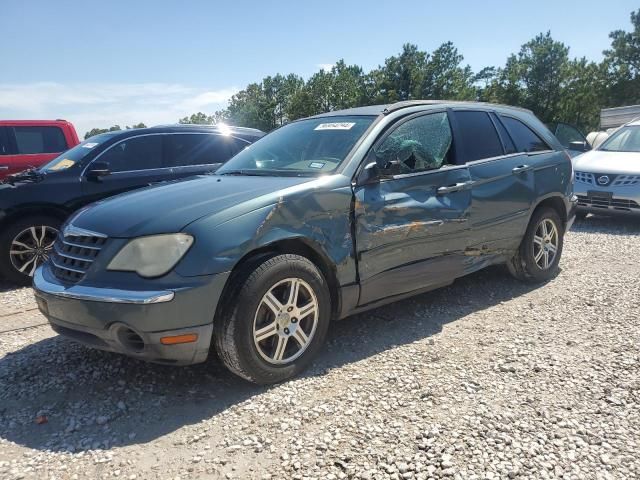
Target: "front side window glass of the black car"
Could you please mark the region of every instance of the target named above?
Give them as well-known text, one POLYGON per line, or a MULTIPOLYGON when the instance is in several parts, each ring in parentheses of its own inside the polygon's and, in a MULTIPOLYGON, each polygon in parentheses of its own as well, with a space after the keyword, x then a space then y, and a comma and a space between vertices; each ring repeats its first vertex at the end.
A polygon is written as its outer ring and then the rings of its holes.
POLYGON ((162 135, 124 140, 109 148, 96 161, 108 163, 112 172, 162 168, 162 135))

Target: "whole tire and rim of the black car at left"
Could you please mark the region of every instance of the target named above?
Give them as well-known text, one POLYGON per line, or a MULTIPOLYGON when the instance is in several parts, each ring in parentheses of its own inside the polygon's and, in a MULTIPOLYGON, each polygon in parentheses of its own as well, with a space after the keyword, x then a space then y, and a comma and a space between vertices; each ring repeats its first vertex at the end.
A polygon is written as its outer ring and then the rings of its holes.
POLYGON ((4 228, 0 233, 0 276, 18 285, 31 285, 36 268, 53 249, 60 224, 55 217, 34 215, 4 228))

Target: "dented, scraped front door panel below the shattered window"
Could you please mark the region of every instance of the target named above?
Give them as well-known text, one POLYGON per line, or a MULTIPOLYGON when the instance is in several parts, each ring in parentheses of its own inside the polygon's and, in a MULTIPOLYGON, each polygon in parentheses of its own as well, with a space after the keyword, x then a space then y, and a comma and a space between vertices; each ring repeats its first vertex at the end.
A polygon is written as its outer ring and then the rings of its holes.
POLYGON ((354 193, 360 305, 461 274, 471 206, 466 167, 383 180, 354 193), (438 194, 441 187, 461 184, 438 194))

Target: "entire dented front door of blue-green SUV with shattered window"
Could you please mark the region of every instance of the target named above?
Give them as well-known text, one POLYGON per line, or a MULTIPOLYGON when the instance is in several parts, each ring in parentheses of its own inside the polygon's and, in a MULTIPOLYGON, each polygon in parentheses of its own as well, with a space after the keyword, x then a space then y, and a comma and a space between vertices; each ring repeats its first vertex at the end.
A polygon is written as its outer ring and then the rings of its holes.
POLYGON ((471 178, 451 146, 446 112, 401 120, 374 146, 395 171, 354 190, 360 305, 462 274, 471 178))

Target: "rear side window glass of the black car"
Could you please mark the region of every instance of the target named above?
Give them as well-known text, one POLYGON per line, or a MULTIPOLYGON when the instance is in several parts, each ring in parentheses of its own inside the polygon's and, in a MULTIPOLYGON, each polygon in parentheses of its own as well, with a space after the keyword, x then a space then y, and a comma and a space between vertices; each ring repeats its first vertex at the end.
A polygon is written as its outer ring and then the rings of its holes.
POLYGON ((167 137, 172 166, 224 163, 236 152, 234 139, 223 135, 179 134, 167 137))

